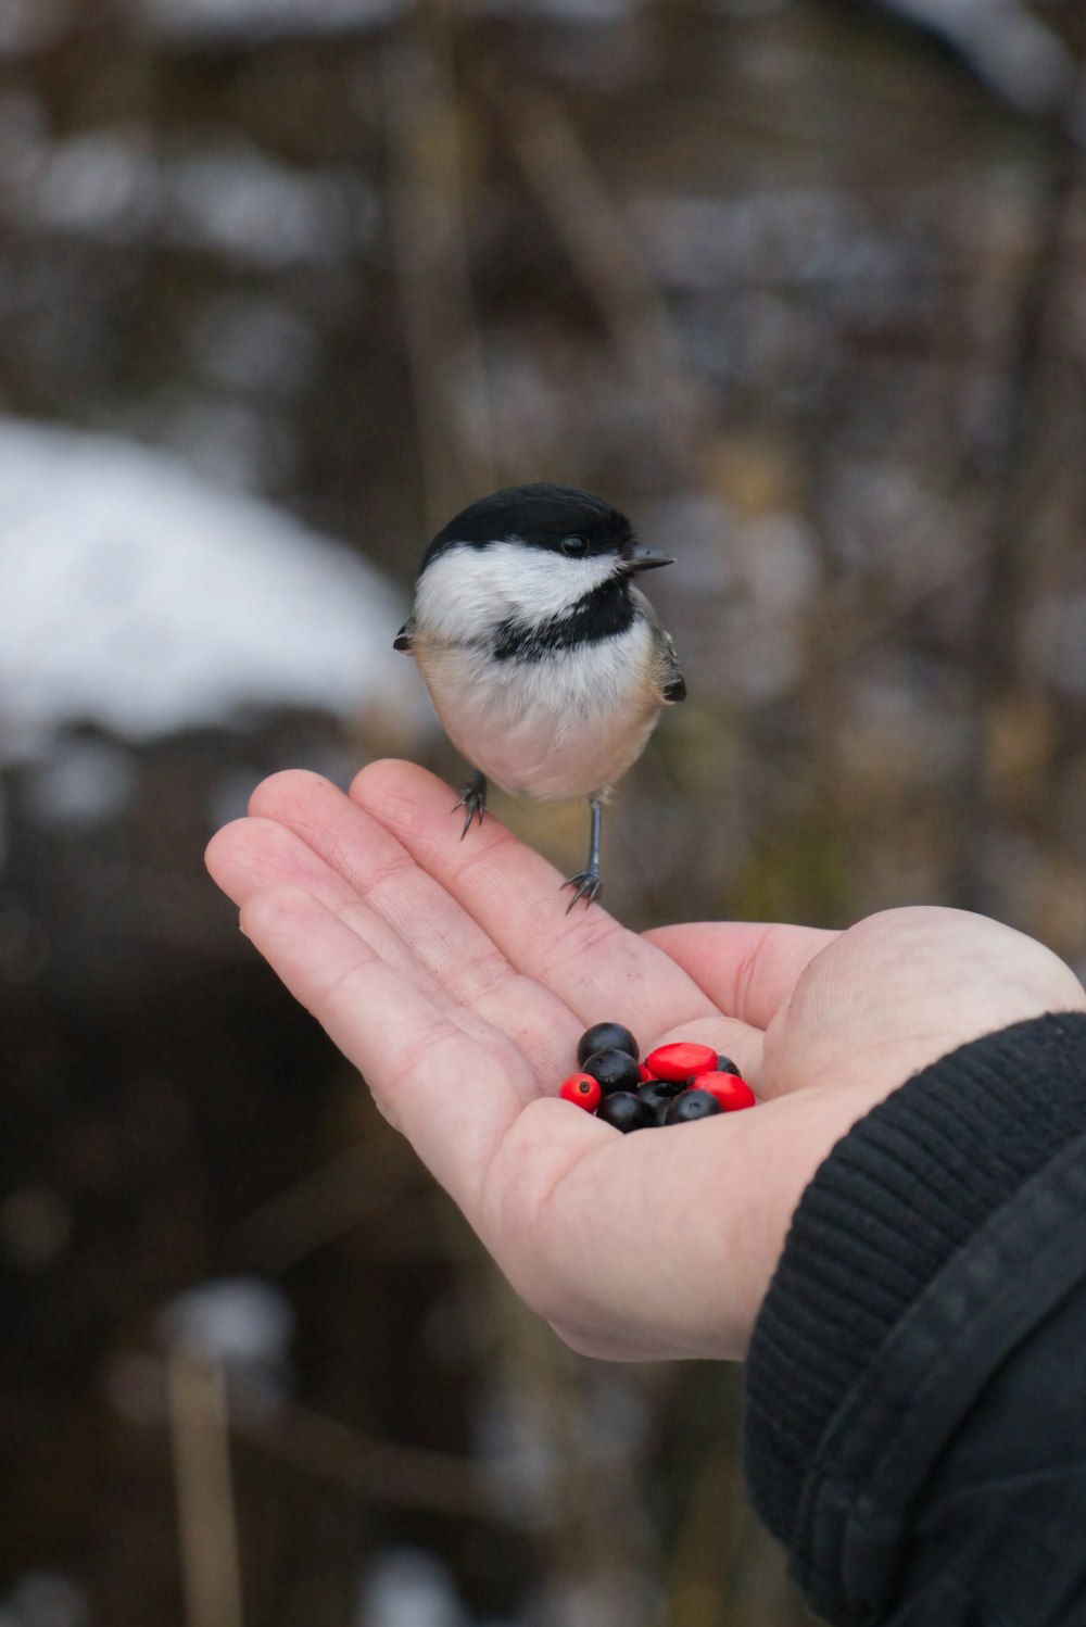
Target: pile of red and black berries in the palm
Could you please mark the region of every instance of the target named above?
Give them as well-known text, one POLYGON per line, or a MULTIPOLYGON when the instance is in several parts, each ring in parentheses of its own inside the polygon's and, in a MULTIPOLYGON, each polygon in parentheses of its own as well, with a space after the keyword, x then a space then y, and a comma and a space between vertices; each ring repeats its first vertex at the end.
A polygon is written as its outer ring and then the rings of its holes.
POLYGON ((644 1062, 639 1054, 629 1028, 595 1023, 577 1043, 580 1072, 563 1080, 559 1097, 623 1132, 754 1106, 735 1062, 707 1045, 680 1040, 657 1046, 644 1062))

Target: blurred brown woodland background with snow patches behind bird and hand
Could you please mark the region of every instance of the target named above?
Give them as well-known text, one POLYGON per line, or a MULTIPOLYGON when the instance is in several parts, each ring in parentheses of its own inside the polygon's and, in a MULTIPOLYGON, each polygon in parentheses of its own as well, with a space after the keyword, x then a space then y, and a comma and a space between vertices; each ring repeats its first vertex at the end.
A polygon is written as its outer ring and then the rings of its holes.
POLYGON ((0 1627, 803 1619, 738 1375, 523 1313, 202 849, 275 768, 457 776, 413 568, 554 478, 678 556, 615 913, 1086 971, 1084 55, 1076 0, 0 0, 0 1627))

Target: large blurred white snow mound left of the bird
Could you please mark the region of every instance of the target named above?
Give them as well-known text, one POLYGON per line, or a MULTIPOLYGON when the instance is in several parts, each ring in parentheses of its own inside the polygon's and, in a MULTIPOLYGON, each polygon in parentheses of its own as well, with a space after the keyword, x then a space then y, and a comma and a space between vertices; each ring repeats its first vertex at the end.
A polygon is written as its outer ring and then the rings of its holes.
POLYGON ((130 740, 276 708, 410 724, 405 615, 346 547, 179 459, 0 420, 0 761, 78 721, 130 740))

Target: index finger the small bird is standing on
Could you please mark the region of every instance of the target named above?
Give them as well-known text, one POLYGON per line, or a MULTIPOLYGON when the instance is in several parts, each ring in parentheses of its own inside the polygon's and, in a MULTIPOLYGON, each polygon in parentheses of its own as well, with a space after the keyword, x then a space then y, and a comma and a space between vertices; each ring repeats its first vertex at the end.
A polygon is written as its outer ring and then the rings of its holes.
POLYGON ((449 787, 424 770, 371 763, 354 778, 351 800, 395 831, 510 965, 551 988, 582 1022, 613 1019, 655 1043, 676 1022, 715 1015, 686 971, 598 905, 566 914, 558 870, 489 815, 460 841, 449 787))

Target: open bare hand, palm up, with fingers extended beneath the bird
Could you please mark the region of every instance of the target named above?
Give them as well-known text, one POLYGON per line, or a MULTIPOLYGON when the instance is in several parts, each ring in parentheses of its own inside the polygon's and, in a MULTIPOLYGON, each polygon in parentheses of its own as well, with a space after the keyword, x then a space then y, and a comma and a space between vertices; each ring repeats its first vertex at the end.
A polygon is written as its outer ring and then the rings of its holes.
POLYGON ((847 932, 566 914, 561 875, 489 814, 372 763, 350 796, 257 787, 208 867, 242 931, 364 1074, 517 1292, 611 1360, 741 1357, 792 1212, 834 1142, 910 1074, 1045 1010, 1086 1010, 1050 950, 984 916, 847 932), (759 1105, 621 1136, 556 1090, 577 1038, 702 1040, 759 1105))

